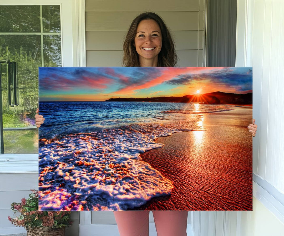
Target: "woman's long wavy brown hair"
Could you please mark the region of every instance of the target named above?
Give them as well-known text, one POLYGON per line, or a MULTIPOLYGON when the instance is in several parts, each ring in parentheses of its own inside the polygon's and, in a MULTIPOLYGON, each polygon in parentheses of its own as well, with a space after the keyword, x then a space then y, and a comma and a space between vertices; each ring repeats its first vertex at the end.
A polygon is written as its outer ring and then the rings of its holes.
POLYGON ((178 57, 176 55, 175 45, 172 40, 170 30, 162 18, 154 12, 141 13, 132 21, 123 43, 123 65, 140 66, 138 53, 134 46, 134 38, 138 24, 141 20, 155 20, 160 26, 162 33, 162 48, 158 54, 158 66, 175 66, 178 61, 178 57))

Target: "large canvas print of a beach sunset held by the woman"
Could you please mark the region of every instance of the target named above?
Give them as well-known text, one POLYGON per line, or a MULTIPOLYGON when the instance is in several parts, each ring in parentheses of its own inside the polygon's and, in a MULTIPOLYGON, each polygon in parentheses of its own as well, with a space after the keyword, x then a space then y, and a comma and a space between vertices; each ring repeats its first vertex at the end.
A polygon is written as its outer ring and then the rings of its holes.
POLYGON ((39 210, 252 210, 251 67, 40 67, 39 210))

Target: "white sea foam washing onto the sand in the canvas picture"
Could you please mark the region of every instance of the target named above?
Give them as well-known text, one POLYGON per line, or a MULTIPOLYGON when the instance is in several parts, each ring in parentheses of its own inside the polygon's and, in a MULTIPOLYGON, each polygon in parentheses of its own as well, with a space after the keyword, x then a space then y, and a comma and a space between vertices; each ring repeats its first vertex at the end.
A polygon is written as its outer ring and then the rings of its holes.
POLYGON ((140 153, 162 147, 154 142, 157 137, 199 128, 199 118, 41 139, 39 209, 127 210, 170 195, 172 181, 143 162, 140 153))

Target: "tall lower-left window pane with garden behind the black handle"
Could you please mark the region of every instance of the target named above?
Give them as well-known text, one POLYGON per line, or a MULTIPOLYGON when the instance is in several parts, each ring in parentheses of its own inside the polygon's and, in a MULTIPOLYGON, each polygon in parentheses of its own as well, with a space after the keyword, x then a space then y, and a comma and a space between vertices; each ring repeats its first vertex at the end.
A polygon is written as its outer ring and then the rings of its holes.
POLYGON ((34 127, 38 103, 38 67, 41 66, 40 35, 0 35, 0 60, 18 62, 19 106, 9 106, 6 64, 1 64, 5 153, 37 153, 34 130, 7 128, 34 127), (8 51, 7 51, 8 49, 8 51), (5 130, 6 129, 6 130, 5 130))

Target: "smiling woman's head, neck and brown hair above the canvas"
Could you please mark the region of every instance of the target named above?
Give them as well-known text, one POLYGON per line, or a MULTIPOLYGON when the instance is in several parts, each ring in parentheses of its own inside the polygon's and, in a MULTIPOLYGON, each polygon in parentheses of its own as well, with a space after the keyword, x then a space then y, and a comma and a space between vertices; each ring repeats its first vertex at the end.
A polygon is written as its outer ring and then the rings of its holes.
POLYGON ((174 48, 172 35, 164 21, 153 12, 145 12, 132 21, 126 34, 123 64, 175 66, 178 57, 174 48), (152 59, 153 63, 150 63, 152 59))

